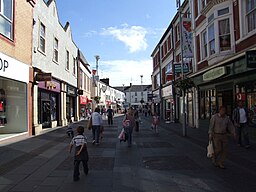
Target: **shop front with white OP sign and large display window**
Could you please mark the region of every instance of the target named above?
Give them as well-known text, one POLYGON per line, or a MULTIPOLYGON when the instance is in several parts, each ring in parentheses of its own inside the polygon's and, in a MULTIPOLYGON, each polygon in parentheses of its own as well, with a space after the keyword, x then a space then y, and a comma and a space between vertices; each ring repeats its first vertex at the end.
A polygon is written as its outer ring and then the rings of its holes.
POLYGON ((29 65, 0 53, 0 134, 28 132, 29 65))

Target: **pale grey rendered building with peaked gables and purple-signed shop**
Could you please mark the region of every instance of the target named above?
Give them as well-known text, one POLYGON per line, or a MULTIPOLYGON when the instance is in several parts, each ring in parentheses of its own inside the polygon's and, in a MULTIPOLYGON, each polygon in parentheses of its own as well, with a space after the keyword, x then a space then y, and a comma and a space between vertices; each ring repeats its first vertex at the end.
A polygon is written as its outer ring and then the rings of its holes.
POLYGON ((60 24, 55 1, 38 0, 33 18, 33 123, 37 133, 78 119, 78 48, 69 23, 60 24))

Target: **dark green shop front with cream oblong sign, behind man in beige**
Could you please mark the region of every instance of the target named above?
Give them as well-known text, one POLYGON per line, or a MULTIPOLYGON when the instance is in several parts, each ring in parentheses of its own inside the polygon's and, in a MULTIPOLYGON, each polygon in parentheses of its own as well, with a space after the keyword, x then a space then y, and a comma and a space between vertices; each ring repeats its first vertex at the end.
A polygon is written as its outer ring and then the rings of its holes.
POLYGON ((248 67, 246 57, 242 56, 193 76, 198 87, 199 124, 208 124, 220 106, 225 106, 227 115, 232 117, 238 100, 245 101, 246 107, 254 110, 255 72, 255 68, 248 67))

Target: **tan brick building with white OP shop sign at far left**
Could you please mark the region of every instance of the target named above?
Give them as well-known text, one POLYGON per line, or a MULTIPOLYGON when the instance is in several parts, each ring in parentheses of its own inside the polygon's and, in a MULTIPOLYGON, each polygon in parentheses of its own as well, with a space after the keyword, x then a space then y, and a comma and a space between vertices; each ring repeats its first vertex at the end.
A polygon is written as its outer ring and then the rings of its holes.
POLYGON ((34 1, 0 1, 0 134, 32 134, 34 1))

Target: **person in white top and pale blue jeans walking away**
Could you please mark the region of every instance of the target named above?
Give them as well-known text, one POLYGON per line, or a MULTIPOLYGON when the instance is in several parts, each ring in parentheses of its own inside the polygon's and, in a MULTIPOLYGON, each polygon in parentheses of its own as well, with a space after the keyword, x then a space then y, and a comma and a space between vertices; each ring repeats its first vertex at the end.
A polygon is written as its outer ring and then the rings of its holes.
POLYGON ((99 137, 101 127, 103 126, 102 116, 100 115, 100 108, 95 108, 94 112, 92 113, 92 144, 99 145, 99 137))

